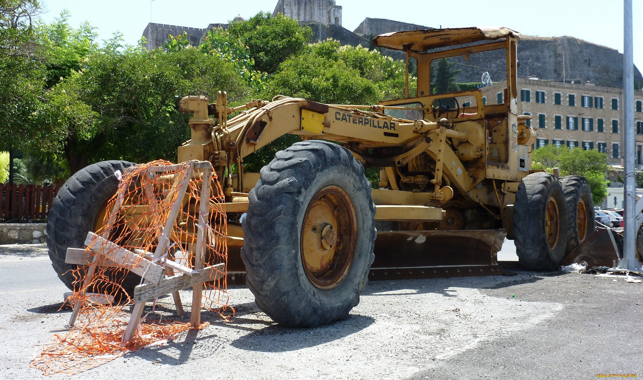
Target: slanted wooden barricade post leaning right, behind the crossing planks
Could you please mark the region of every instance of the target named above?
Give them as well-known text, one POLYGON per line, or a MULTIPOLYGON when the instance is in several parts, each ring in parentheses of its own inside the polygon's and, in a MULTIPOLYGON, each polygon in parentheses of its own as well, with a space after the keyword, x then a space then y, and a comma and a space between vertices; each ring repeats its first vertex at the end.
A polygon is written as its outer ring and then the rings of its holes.
MULTIPOLYGON (((192 171, 194 171, 194 162, 190 162, 188 168, 183 171, 183 177, 178 177, 181 178, 181 184, 179 185, 179 189, 176 192, 176 200, 172 204, 170 214, 168 215, 167 221, 165 222, 165 228, 163 228, 163 232, 161 234, 158 234, 157 236, 158 245, 156 246, 156 250, 154 251, 152 261, 161 257, 161 255, 165 254, 165 250, 167 250, 170 232, 172 232, 172 229, 174 229, 176 217, 179 215, 179 211, 181 211, 183 196, 185 196, 185 191, 188 188, 188 183, 190 182, 190 178, 192 178, 192 171)), ((170 191, 167 196, 171 199, 173 196, 172 191, 170 191)), ((140 322, 141 314, 143 314, 143 307, 145 307, 145 302, 139 302, 138 304, 134 305, 134 309, 132 309, 132 316, 129 318, 129 323, 127 324, 127 329, 125 329, 125 332, 123 333, 123 342, 132 340, 132 338, 134 337, 134 332, 136 331, 136 327, 138 327, 138 324, 140 322)))

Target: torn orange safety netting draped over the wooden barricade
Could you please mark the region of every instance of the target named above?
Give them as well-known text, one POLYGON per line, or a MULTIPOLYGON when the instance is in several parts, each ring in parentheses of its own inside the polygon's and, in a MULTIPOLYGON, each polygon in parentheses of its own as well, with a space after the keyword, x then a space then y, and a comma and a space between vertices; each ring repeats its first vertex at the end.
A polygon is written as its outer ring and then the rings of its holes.
MULTIPOLYGON (((121 177, 118 192, 107 203, 105 216, 101 219, 103 225, 95 232, 98 237, 91 239, 89 246, 96 247, 96 241, 100 245, 102 240, 99 237, 102 236, 129 253, 123 259, 123 250, 118 247, 86 249, 89 264, 79 265, 73 271, 76 291, 67 300, 72 305, 80 302, 76 323, 68 332, 54 334, 33 359, 31 367, 39 368, 44 375, 77 374, 127 352, 173 340, 190 328, 189 323, 167 320, 167 317, 161 318, 162 313, 159 316, 145 309, 134 338, 122 343, 123 332, 131 316, 124 308, 133 303, 134 286, 147 282, 132 272, 132 268, 141 267, 141 263, 147 263, 149 269, 150 264, 143 260, 143 254, 149 252, 147 259, 165 267, 165 276, 174 275, 173 270, 165 265, 167 260, 192 270, 199 269, 195 268, 195 254, 201 230, 201 267, 226 263, 224 194, 217 175, 212 173, 208 212, 199 212, 206 169, 190 170, 192 174, 188 173, 188 168, 189 162, 172 166, 170 162, 158 160, 129 168, 122 177, 116 173, 121 177), (185 193, 181 192, 182 185, 185 193), (172 207, 178 210, 174 222, 172 207), (168 217, 170 232, 166 236, 163 230, 168 230, 165 227, 168 217), (163 242, 163 239, 167 241, 163 242), (163 252, 156 252, 159 245, 166 247, 163 252)), ((211 166, 209 168, 212 169, 211 166)), ((212 275, 210 281, 204 283, 202 305, 227 319, 234 310, 228 306, 225 267, 215 272, 217 276, 212 275)), ((140 274, 147 276, 146 272, 140 274)), ((161 270, 161 277, 165 276, 161 270)), ((156 300, 152 309, 154 306, 156 300)), ((207 324, 200 327, 204 325, 207 324)))

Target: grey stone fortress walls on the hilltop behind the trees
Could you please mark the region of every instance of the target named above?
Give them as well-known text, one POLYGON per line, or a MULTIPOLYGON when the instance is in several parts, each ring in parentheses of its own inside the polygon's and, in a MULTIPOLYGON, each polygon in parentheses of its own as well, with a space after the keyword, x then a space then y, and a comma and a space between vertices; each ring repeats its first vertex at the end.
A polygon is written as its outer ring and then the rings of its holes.
MULTIPOLYGON (((313 31, 312 42, 328 38, 336 39, 341 44, 364 46, 372 48, 371 35, 379 35, 390 31, 433 29, 429 26, 409 24, 407 22, 388 19, 365 18, 354 31, 341 26, 341 6, 334 0, 278 0, 273 15, 283 13, 300 24, 309 25, 313 31)), ((226 28, 228 24, 210 24, 208 28, 188 28, 150 22, 143 31, 147 39, 148 50, 163 47, 167 35, 188 33, 190 44, 196 46, 212 27, 226 28)), ((395 59, 404 59, 404 53, 381 49, 385 55, 395 59)), ((503 51, 487 52, 484 55, 471 55, 464 61, 456 58, 458 69, 457 81, 480 82, 482 73, 488 71, 493 82, 506 79, 505 55, 503 51)), ((623 85, 622 54, 616 49, 605 47, 592 42, 563 37, 536 37, 523 35, 518 42, 518 75, 524 78, 536 76, 541 80, 577 80, 581 83, 592 81, 597 86, 619 87, 623 85), (563 73, 563 56, 565 70, 563 73)), ((637 67, 634 68, 635 80, 642 81, 643 76, 637 67)))

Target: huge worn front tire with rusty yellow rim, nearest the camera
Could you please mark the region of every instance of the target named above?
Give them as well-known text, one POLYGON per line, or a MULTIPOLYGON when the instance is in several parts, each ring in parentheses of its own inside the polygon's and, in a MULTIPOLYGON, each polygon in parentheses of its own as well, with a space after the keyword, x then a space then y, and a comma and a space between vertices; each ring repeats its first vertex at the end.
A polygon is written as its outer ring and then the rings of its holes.
POLYGON ((349 316, 368 281, 375 205, 349 150, 303 141, 278 151, 250 191, 246 283, 275 322, 316 327, 349 316))

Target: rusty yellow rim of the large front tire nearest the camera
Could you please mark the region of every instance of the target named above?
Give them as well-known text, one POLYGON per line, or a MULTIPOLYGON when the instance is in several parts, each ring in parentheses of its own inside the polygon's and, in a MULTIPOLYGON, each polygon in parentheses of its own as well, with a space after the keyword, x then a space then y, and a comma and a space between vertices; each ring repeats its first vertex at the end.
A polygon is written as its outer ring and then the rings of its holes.
POLYGON ((327 186, 312 197, 303 217, 303 270, 318 289, 339 286, 350 272, 358 237, 357 213, 341 187, 327 186))

